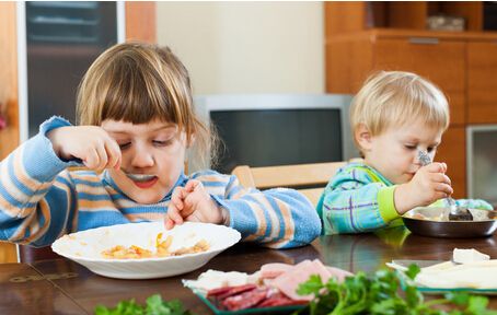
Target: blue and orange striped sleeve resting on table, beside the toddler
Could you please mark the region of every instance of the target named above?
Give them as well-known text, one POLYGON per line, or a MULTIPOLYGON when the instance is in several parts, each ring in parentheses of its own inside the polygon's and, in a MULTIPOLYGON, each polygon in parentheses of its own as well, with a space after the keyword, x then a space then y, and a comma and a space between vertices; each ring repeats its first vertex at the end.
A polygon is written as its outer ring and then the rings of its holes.
POLYGON ((197 179, 228 211, 228 225, 238 230, 244 241, 289 248, 307 245, 320 235, 321 222, 313 206, 297 190, 245 189, 234 175, 210 174, 212 182, 203 176, 197 179))

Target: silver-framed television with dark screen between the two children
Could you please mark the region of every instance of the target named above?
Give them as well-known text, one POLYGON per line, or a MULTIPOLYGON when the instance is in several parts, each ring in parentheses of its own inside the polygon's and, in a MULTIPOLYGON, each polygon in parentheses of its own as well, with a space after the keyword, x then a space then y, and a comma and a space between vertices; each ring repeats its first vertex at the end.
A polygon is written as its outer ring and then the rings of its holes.
POLYGON ((354 155, 350 95, 210 95, 195 102, 221 139, 211 165, 221 173, 238 165, 336 162, 354 155))

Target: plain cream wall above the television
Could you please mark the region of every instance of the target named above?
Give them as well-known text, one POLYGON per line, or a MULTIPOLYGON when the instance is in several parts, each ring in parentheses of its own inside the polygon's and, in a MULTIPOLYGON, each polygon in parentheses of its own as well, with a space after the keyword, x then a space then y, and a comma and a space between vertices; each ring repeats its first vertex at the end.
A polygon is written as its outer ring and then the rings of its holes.
POLYGON ((322 2, 158 2, 195 94, 323 93, 322 2))

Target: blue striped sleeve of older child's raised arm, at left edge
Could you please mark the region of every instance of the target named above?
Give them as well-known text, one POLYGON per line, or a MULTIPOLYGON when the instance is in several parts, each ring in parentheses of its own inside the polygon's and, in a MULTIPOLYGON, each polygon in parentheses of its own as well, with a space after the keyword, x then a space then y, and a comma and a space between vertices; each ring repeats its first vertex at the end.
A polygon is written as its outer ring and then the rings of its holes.
POLYGON ((45 137, 66 124, 60 118, 46 121, 0 163, 0 240, 48 245, 70 222, 73 185, 61 172, 74 163, 58 159, 45 137))

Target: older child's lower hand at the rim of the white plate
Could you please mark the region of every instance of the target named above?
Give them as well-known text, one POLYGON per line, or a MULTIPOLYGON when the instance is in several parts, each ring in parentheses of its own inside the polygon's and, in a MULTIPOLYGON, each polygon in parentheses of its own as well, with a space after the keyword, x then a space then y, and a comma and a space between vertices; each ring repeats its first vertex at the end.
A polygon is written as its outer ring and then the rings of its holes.
POLYGON ((199 180, 190 179, 185 187, 176 187, 165 214, 165 229, 184 221, 223 224, 228 211, 212 200, 199 180))

